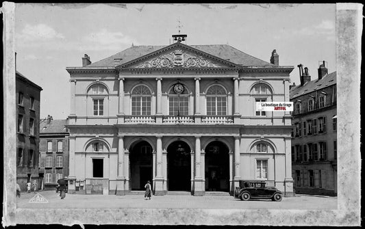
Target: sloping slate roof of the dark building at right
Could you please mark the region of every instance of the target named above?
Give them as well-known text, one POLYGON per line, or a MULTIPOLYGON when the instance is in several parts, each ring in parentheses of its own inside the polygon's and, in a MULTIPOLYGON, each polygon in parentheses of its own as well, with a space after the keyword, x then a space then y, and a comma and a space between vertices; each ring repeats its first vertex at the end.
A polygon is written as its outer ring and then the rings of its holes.
POLYGON ((336 72, 331 72, 322 79, 314 79, 307 83, 304 83, 303 86, 296 85, 290 89, 290 99, 297 98, 302 96, 303 94, 308 94, 310 92, 315 92, 316 90, 320 90, 325 87, 329 87, 330 85, 336 84, 336 72))

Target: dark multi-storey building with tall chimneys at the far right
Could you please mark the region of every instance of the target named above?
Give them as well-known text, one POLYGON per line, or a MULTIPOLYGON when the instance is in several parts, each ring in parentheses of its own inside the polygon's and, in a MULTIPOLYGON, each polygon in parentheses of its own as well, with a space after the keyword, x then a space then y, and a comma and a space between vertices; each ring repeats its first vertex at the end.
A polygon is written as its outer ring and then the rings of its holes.
MULTIPOLYGON (((299 65, 299 68, 302 68, 299 65)), ((292 177, 296 193, 337 195, 336 72, 328 74, 325 62, 318 79, 307 68, 301 85, 290 89, 292 113, 292 177)))

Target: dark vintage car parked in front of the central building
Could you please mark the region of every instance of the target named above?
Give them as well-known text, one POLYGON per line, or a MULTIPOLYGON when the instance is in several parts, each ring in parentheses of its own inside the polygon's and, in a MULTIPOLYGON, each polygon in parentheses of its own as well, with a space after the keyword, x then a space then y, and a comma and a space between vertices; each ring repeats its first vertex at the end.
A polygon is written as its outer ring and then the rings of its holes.
POLYGON ((275 187, 267 187, 264 180, 240 180, 240 187, 234 190, 234 197, 241 200, 271 199, 281 201, 281 191, 275 187))

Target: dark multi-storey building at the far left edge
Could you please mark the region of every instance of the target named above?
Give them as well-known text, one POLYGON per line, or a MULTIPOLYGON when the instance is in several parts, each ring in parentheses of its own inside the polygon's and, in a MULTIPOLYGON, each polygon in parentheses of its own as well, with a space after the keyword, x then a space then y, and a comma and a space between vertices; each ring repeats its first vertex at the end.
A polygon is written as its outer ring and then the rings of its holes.
POLYGON ((38 144, 40 91, 36 85, 16 71, 16 183, 22 191, 27 182, 38 180, 38 144))

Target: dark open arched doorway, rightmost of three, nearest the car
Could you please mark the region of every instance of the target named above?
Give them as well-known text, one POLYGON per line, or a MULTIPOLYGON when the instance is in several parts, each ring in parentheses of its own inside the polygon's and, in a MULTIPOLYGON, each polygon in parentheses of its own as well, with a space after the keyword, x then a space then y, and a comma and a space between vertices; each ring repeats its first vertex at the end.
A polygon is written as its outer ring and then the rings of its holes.
POLYGON ((205 148, 205 191, 229 191, 229 149, 223 142, 205 148))

